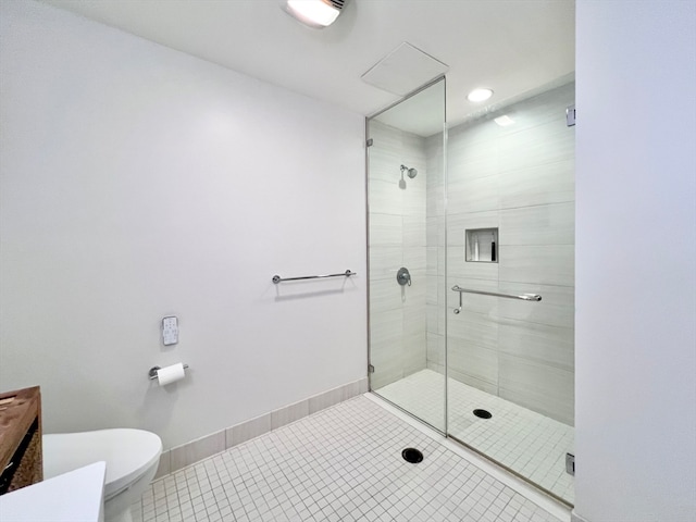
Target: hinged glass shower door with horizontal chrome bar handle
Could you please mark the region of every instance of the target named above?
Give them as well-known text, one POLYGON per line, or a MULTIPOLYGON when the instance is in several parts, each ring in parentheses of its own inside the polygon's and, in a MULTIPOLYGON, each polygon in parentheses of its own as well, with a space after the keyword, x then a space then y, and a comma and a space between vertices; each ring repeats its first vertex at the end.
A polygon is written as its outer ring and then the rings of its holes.
POLYGON ((572 505, 574 84, 537 92, 449 129, 448 434, 572 505))

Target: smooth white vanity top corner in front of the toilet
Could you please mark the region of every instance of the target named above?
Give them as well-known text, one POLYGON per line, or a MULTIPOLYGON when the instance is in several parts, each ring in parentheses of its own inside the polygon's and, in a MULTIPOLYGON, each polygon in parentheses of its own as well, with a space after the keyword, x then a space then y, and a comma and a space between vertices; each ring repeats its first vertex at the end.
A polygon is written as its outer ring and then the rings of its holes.
POLYGON ((79 468, 0 496, 2 522, 101 522, 107 463, 79 468))

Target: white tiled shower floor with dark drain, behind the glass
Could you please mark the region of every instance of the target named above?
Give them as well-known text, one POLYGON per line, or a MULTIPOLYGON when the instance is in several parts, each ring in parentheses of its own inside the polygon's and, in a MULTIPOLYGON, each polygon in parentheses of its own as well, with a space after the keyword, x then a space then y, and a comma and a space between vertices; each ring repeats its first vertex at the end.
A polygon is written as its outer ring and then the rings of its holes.
MULTIPOLYGON (((422 370, 376 393, 443 430, 445 377, 422 370)), ((574 455, 574 430, 509 400, 449 380, 449 434, 493 460, 527 477, 569 504, 574 504, 574 478, 566 472, 566 453, 574 455), (484 409, 492 419, 480 419, 484 409)))

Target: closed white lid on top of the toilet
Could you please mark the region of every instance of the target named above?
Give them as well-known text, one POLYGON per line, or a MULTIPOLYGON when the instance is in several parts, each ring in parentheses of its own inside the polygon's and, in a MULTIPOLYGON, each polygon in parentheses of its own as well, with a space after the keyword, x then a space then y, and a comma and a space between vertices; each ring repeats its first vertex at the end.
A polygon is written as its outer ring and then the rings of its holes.
POLYGON ((113 428, 95 432, 45 434, 44 478, 92 462, 107 462, 104 498, 110 498, 156 464, 162 440, 142 430, 113 428))

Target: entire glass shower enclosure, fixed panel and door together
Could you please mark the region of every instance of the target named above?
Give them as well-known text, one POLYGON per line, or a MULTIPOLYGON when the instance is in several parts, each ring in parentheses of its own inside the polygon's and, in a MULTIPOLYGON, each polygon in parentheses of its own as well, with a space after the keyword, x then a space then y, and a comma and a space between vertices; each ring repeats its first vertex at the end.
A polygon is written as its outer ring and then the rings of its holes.
POLYGON ((449 129, 445 85, 366 122, 370 386, 572 505, 574 83, 449 129))

